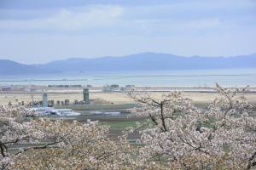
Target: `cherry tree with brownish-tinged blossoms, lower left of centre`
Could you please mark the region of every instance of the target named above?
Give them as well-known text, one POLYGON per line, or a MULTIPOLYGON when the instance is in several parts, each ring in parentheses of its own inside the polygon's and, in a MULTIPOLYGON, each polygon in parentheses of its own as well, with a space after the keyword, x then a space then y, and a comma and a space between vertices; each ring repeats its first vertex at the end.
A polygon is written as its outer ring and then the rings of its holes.
POLYGON ((130 144, 108 139, 108 127, 61 120, 36 124, 51 142, 29 149, 30 156, 20 154, 11 165, 14 169, 120 169, 130 164, 124 163, 129 160, 124 153, 130 144))

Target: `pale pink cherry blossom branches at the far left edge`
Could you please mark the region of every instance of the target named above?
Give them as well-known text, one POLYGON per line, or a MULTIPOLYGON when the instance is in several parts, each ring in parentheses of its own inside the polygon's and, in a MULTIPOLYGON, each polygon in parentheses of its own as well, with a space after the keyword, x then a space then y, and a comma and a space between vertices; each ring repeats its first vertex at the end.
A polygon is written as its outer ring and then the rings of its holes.
POLYGON ((26 121, 27 116, 36 116, 36 113, 25 107, 0 107, 1 169, 7 167, 13 157, 9 146, 22 142, 37 143, 41 138, 40 133, 33 130, 33 123, 26 121))

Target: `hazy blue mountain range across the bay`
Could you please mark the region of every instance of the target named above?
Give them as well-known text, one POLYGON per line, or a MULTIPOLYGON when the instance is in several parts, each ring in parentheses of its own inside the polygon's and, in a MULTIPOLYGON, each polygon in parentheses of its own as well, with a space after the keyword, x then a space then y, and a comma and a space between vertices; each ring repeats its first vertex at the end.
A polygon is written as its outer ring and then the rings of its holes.
POLYGON ((165 71, 256 68, 256 54, 234 57, 182 57, 173 54, 142 53, 95 59, 70 58, 41 65, 23 65, 0 59, 0 75, 48 74, 86 71, 165 71))

